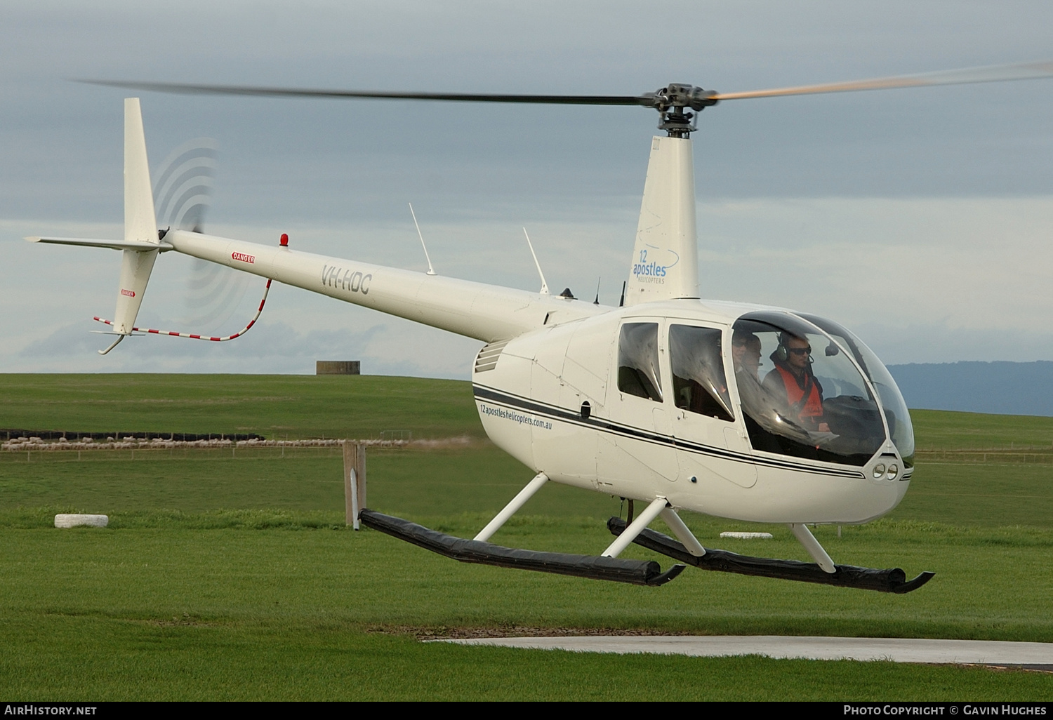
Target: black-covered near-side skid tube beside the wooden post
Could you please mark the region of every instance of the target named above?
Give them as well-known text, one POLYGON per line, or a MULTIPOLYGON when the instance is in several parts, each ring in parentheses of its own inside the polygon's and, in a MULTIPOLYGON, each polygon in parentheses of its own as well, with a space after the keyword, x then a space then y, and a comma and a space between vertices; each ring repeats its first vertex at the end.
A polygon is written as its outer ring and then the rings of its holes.
POLYGON ((386 533, 399 540, 438 553, 461 562, 481 565, 532 569, 556 575, 571 575, 593 580, 612 580, 634 585, 663 585, 684 565, 673 565, 664 573, 654 560, 623 560, 592 555, 569 553, 539 553, 537 551, 502 547, 479 540, 465 540, 433 531, 415 522, 363 508, 358 518, 363 525, 386 533))

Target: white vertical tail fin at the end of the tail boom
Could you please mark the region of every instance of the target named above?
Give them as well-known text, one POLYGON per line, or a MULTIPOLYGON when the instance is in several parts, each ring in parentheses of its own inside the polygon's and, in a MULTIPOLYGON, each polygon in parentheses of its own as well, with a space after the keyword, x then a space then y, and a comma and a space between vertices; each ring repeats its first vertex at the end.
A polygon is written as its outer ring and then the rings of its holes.
MULTIPOLYGON (((139 98, 124 100, 124 239, 160 243, 139 98)), ((122 253, 114 331, 123 336, 132 334, 158 251, 125 249, 122 253)))

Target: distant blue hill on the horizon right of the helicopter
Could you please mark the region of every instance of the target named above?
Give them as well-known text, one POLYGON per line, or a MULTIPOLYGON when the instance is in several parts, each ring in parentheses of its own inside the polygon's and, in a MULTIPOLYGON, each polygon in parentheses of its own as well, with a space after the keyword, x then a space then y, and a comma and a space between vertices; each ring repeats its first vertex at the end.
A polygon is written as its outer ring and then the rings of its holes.
POLYGON ((889 365, 908 407, 1053 416, 1053 362, 889 365))

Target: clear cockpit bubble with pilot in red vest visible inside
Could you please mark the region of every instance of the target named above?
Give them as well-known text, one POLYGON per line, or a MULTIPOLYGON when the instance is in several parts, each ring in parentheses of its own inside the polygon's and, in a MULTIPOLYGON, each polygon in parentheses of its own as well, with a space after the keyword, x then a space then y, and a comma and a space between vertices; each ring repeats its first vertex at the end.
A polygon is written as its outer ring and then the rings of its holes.
POLYGON ((887 424, 905 464, 913 464, 902 396, 877 356, 840 325, 749 313, 733 325, 732 360, 754 449, 863 465, 885 444, 887 424))

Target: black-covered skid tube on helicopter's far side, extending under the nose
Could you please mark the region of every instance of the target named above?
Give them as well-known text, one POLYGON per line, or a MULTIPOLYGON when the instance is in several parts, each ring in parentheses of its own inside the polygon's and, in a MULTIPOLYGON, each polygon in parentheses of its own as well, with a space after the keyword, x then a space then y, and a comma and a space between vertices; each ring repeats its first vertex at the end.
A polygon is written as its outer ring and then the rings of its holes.
MULTIPOLYGON (((627 524, 621 518, 611 518, 607 521, 607 527, 612 535, 621 535, 627 524)), ((910 593, 932 580, 935 575, 935 573, 921 573, 913 580, 908 580, 907 574, 898 567, 876 569, 856 567, 855 565, 834 565, 837 568, 836 572, 826 573, 814 562, 752 558, 748 555, 710 549, 709 547, 706 548, 706 555, 695 557, 681 543, 653 529, 644 529, 636 536, 633 542, 702 569, 755 575, 761 578, 780 580, 817 582, 826 585, 872 589, 879 593, 910 593)))

